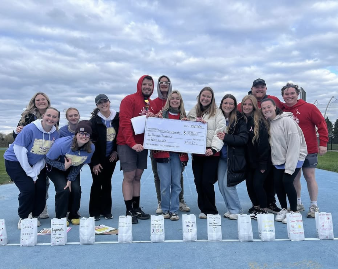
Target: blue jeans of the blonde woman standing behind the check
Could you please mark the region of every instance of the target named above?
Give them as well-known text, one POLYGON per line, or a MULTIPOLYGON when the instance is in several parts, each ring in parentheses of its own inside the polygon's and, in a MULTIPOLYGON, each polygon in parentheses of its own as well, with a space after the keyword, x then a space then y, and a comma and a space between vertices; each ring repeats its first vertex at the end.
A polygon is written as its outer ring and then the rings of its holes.
POLYGON ((163 213, 177 213, 181 192, 182 163, 178 153, 169 153, 169 163, 157 163, 161 187, 161 208, 163 213))

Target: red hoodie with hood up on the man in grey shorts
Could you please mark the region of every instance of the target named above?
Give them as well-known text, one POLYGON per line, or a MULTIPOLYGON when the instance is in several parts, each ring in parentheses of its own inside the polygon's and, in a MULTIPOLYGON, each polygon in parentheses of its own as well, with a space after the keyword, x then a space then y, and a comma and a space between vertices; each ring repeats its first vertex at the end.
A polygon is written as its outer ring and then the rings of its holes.
MULTIPOLYGON (((144 134, 136 135, 134 133, 130 119, 147 114, 145 109, 146 103, 144 102, 144 97, 141 90, 142 82, 145 76, 147 75, 141 76, 137 82, 137 92, 127 95, 121 101, 119 114, 120 126, 116 138, 118 145, 128 145, 130 148, 134 147, 136 144, 143 145, 144 134)), ((152 81, 152 85, 151 94, 154 92, 154 81, 152 81)), ((149 111, 155 114, 157 112, 156 105, 152 100, 149 99, 149 97, 147 98, 149 100, 149 111)))

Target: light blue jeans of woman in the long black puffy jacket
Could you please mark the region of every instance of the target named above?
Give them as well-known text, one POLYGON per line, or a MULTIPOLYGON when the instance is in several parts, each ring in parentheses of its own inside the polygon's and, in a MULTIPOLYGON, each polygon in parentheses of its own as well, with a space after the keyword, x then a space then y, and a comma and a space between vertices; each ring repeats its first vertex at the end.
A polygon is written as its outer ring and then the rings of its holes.
POLYGON ((226 159, 219 159, 217 170, 218 188, 223 196, 227 210, 229 210, 231 214, 241 214, 242 207, 238 198, 236 186, 227 186, 227 164, 226 159))

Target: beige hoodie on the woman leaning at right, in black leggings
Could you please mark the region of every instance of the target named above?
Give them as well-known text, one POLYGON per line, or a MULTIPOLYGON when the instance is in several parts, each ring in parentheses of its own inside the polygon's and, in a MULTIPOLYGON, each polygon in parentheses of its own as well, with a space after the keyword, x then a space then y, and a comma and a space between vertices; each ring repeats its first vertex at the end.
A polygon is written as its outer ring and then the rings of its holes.
POLYGON ((291 112, 277 115, 270 125, 271 159, 273 165, 285 163, 285 173, 292 175, 298 161, 308 155, 303 131, 294 122, 291 112))

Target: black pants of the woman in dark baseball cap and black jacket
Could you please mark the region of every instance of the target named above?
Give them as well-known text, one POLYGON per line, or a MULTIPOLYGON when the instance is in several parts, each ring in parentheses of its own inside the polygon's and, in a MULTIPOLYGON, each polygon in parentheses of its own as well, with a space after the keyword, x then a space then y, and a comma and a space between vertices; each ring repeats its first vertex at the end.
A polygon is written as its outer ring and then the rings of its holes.
POLYGON ((93 166, 90 165, 93 184, 90 189, 89 215, 96 217, 112 213, 112 176, 115 170, 116 161, 110 162, 110 157, 106 157, 101 163, 101 173, 95 175, 93 166))

